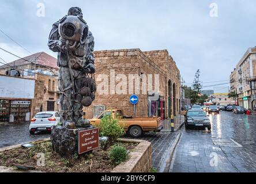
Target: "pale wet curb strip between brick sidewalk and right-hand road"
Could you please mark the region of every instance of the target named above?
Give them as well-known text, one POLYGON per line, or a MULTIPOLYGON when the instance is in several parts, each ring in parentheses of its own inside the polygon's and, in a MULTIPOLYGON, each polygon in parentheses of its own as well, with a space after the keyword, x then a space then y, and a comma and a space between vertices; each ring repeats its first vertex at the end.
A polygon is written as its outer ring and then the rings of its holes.
POLYGON ((175 139, 172 141, 172 143, 168 147, 167 154, 165 155, 164 159, 161 161, 159 173, 168 173, 171 166, 172 156, 174 154, 176 145, 178 144, 181 135, 182 133, 178 133, 175 139))

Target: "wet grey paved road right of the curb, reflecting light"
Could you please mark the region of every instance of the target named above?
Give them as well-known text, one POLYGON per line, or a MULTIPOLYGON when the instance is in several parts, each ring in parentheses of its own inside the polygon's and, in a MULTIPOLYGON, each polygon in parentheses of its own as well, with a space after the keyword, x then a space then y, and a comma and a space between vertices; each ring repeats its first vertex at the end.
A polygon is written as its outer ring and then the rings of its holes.
POLYGON ((186 130, 170 172, 256 172, 256 116, 221 112, 209 116, 212 132, 186 130))

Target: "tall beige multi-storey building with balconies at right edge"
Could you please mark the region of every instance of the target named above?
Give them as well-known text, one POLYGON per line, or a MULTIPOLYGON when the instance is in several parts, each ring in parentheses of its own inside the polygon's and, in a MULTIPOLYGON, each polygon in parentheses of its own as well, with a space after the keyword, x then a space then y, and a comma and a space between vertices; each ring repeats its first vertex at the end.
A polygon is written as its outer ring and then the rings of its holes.
POLYGON ((250 86, 250 81, 256 76, 256 47, 249 48, 242 59, 236 64, 230 78, 231 91, 238 94, 237 103, 247 109, 255 106, 256 91, 250 86))

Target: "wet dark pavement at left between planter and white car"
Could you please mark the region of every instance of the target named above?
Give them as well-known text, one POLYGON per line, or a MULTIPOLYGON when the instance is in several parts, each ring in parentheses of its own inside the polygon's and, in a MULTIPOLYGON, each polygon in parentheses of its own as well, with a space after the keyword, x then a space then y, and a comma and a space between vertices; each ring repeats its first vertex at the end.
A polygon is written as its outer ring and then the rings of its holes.
POLYGON ((50 137, 48 133, 29 134, 29 123, 0 125, 0 148, 50 137))

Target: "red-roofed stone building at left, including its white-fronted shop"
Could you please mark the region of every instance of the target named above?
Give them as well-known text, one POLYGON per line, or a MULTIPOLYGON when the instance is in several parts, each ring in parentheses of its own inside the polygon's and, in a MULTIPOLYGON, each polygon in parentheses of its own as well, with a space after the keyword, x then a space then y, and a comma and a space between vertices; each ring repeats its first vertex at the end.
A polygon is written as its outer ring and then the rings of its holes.
POLYGON ((0 66, 0 90, 8 91, 0 94, 0 121, 24 122, 37 112, 58 111, 57 73, 57 59, 44 52, 0 66), (11 76, 11 70, 21 76, 11 76))

